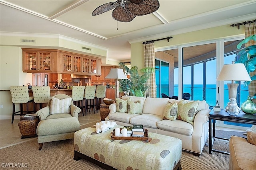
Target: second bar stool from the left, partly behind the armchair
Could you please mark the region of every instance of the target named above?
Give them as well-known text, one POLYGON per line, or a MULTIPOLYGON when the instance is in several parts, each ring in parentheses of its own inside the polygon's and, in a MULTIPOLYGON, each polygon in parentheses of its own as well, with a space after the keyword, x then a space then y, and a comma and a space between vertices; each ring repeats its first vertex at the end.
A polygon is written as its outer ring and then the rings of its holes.
POLYGON ((34 112, 38 111, 37 104, 42 109, 43 103, 48 103, 50 100, 50 86, 32 86, 34 97, 34 112))

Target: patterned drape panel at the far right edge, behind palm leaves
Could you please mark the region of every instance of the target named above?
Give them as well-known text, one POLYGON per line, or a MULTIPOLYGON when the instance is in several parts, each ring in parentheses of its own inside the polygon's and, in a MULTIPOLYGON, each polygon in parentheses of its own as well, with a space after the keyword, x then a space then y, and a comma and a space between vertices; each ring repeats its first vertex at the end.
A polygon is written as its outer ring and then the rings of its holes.
MULTIPOLYGON (((256 34, 256 23, 245 25, 245 37, 249 37, 254 34, 256 34)), ((256 45, 256 41, 251 40, 245 44, 246 47, 250 45, 256 45)), ((255 74, 256 74, 256 70, 254 72, 250 72, 250 76, 255 74)), ((256 80, 251 81, 248 88, 249 88, 250 96, 253 96, 256 93, 256 80)), ((256 99, 253 99, 252 101, 256 103, 256 99)))

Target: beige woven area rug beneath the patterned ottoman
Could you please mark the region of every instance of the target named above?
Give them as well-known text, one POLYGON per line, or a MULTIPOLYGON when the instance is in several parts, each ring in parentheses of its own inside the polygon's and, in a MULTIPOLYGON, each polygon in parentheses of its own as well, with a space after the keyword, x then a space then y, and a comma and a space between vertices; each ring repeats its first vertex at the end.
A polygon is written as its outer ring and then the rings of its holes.
MULTIPOLYGON (((90 127, 90 124, 86 126, 90 127)), ((215 141, 213 148, 228 152, 228 141, 215 141)), ((0 156, 1 166, 9 166, 9 168, 1 167, 1 169, 26 166, 28 170, 104 170, 84 159, 78 161, 73 159, 74 139, 44 143, 42 150, 38 150, 38 143, 35 139, 1 149, 0 156)), ((181 166, 182 170, 228 170, 229 156, 217 152, 209 154, 208 147, 204 147, 199 157, 182 150, 181 166)))

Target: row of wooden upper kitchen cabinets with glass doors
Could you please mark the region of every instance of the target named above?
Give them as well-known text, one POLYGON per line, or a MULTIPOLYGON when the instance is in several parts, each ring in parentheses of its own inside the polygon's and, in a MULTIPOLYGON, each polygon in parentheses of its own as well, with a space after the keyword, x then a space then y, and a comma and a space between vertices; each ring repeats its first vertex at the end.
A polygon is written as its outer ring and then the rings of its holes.
POLYGON ((22 48, 23 72, 101 75, 102 60, 58 49, 22 48))

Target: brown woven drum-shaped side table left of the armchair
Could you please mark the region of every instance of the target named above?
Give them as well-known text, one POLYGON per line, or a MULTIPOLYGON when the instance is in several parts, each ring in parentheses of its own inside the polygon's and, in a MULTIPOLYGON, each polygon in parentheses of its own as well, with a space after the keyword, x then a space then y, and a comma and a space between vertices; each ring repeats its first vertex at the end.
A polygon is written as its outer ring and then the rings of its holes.
POLYGON ((39 123, 39 116, 36 114, 22 115, 18 126, 20 128, 21 138, 37 137, 36 127, 39 123), (25 116, 25 117, 24 117, 25 116))

